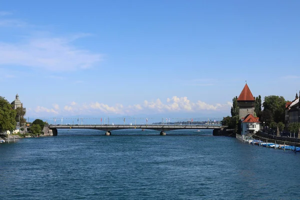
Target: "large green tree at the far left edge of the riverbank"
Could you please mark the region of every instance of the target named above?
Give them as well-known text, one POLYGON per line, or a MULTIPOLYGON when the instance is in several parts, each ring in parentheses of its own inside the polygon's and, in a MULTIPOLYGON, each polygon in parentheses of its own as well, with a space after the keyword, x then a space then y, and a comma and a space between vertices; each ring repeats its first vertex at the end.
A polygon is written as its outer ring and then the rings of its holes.
POLYGON ((12 109, 11 104, 0 96, 0 133, 15 129, 15 115, 16 112, 12 109))

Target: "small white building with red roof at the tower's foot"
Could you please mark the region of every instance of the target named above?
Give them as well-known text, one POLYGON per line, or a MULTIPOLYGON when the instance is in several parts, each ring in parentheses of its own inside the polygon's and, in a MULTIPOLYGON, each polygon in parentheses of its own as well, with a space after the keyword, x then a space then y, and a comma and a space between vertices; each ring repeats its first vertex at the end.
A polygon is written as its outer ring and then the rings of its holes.
POLYGON ((247 114, 241 119, 241 135, 254 134, 259 130, 259 123, 258 117, 247 114))

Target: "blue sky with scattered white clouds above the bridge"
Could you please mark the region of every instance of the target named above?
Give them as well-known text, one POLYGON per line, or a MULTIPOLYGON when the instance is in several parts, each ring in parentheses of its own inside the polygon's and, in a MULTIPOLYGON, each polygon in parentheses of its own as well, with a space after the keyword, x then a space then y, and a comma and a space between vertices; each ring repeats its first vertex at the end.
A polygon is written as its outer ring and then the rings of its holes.
MULTIPOLYGON (((293 100, 300 1, 0 0, 0 96, 26 117, 221 118, 293 100)), ((153 119, 154 120, 154 119, 153 119)))

